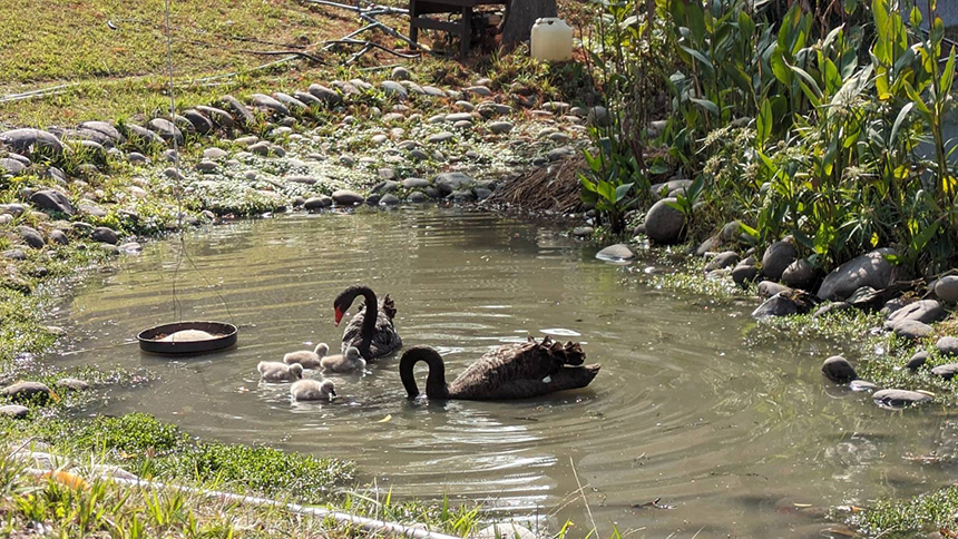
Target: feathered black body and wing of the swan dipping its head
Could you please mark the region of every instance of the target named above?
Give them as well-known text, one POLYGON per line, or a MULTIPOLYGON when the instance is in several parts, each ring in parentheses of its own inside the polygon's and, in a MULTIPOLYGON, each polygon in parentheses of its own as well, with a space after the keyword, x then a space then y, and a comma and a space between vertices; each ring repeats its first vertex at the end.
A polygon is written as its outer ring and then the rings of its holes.
POLYGON ((598 365, 581 365, 577 343, 546 337, 542 342, 505 344, 486 353, 449 384, 457 399, 525 399, 588 385, 598 365))

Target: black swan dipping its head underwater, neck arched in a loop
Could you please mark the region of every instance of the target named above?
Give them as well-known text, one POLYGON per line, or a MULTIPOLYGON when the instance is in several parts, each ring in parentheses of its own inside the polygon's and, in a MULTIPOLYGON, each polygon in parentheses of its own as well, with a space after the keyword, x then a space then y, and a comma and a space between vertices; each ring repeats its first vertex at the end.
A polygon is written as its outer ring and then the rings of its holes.
POLYGON ((413 346, 399 361, 399 376, 410 399, 419 395, 412 367, 420 361, 429 365, 426 396, 430 399, 526 399, 588 385, 599 365, 581 366, 585 356, 578 343, 530 337, 527 343, 504 344, 486 353, 447 384, 442 356, 429 346, 413 346))

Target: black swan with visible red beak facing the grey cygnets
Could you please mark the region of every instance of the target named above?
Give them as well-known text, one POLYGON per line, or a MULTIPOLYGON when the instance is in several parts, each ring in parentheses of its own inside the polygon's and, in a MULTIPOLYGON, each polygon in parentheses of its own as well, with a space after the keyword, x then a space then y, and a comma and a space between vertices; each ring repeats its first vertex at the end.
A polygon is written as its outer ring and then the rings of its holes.
POLYGON ((369 286, 350 286, 336 296, 333 302, 333 307, 336 310, 336 325, 340 325, 343 314, 360 295, 365 298, 365 310, 353 315, 343 331, 343 350, 355 346, 366 361, 399 350, 402 346, 402 339, 392 325, 395 304, 387 295, 380 308, 377 310, 375 294, 369 286))

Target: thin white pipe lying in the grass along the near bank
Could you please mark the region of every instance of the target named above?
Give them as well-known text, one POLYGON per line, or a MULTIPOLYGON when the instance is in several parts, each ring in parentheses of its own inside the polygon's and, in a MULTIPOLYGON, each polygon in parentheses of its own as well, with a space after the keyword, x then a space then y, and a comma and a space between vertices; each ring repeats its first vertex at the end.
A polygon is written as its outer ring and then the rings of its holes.
MULTIPOLYGON (((50 473, 50 470, 38 470, 36 468, 27 468, 25 471, 31 476, 46 476, 50 473)), ((404 526, 397 522, 387 522, 385 520, 377 520, 370 519, 365 517, 356 517, 355 514, 350 514, 342 511, 333 511, 330 509, 323 509, 320 507, 307 507, 301 506, 299 503, 284 503, 277 500, 271 500, 268 498, 258 498, 255 496, 243 496, 243 494, 234 494, 232 492, 222 492, 217 490, 206 490, 206 489, 197 489, 195 487, 183 487, 179 484, 169 484, 162 483, 158 481, 147 481, 145 479, 124 479, 124 478, 115 478, 109 476, 98 476, 98 479, 109 480, 117 484, 125 484, 128 487, 149 487, 154 489, 173 489, 182 492, 189 492, 194 494, 201 494, 206 498, 216 498, 219 500, 226 500, 237 503, 252 504, 252 506, 263 506, 263 507, 280 507, 287 511, 295 512, 299 514, 309 514, 312 517, 319 518, 332 518, 339 522, 351 523, 359 526, 360 528, 366 531, 381 531, 387 532, 393 536, 405 537, 409 539, 462 539, 457 536, 449 536, 446 533, 441 533, 438 531, 430 531, 428 529, 404 526)), ((419 525, 424 526, 424 525, 419 525)))

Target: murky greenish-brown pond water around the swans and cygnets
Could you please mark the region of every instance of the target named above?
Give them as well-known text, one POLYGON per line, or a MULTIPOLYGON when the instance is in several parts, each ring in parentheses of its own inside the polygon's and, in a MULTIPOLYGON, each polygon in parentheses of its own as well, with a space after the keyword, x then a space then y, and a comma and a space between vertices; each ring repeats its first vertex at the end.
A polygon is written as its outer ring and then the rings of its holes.
POLYGON ((637 285, 549 229, 397 210, 240 223, 186 245, 197 270, 179 270, 183 320, 232 320, 240 346, 172 361, 130 344, 173 320, 176 243, 149 245, 90 280, 65 314, 85 336, 59 364, 160 376, 90 411, 146 411, 202 437, 353 459, 395 494, 486 500, 553 531, 571 519, 580 536, 590 525, 576 474, 603 537, 617 526, 675 538, 821 537, 829 506, 954 476, 907 459, 955 449, 946 411, 889 412, 830 388, 819 369, 833 344, 754 340, 752 302, 637 285), (505 403, 408 402, 395 359, 338 376, 332 404, 291 403, 287 385, 261 383, 261 360, 339 347, 332 301, 353 283, 392 294, 405 345, 438 347, 451 375, 530 333, 581 341, 603 370, 585 391, 505 403), (644 507, 659 498, 673 508, 644 507))

